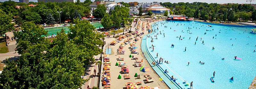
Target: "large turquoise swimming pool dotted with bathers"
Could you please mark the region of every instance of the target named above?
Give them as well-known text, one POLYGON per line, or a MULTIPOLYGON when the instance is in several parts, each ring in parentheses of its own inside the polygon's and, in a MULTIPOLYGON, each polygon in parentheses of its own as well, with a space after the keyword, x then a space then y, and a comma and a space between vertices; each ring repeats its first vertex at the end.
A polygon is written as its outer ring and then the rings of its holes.
POLYGON ((171 62, 159 66, 167 69, 169 76, 173 75, 177 78, 176 82, 182 88, 189 88, 186 84, 191 81, 193 81, 193 89, 247 89, 250 86, 256 75, 254 57, 256 52, 253 52, 256 50, 254 41, 256 35, 249 33, 252 28, 220 25, 210 27, 194 21, 162 21, 156 24, 152 25, 152 29, 156 32, 149 35, 156 38, 154 37, 156 33, 161 31, 162 34, 158 34, 157 39, 152 43, 151 38, 146 39, 148 52, 154 60, 162 57, 164 61, 171 62), (161 23, 165 24, 161 25, 161 23), (156 29, 157 27, 159 30, 156 29), (177 38, 180 36, 182 40, 177 38), (149 48, 152 44, 155 46, 154 51, 149 48), (171 48, 171 44, 175 46, 171 48), (186 51, 184 51, 185 47, 186 51), (215 49, 212 50, 212 47, 215 49), (234 56, 242 60, 234 60, 234 56), (205 64, 201 65, 199 61, 205 64), (188 62, 190 62, 189 65, 188 62), (210 78, 213 77, 214 71, 216 71, 213 78, 215 82, 212 83, 210 78), (231 77, 234 77, 234 81, 230 80, 231 77), (184 81, 186 81, 185 84, 183 84, 184 81))

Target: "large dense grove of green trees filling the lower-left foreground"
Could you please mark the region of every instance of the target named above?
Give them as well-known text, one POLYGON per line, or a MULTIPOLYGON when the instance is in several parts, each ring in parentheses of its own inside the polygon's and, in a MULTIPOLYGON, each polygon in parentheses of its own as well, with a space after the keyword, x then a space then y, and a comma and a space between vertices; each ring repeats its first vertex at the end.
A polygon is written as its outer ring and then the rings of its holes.
MULTIPOLYGON (((1 10, 0 10, 1 11, 1 10)), ((33 22, 25 22, 21 32, 14 32, 18 61, 6 59, 0 74, 0 89, 77 89, 87 81, 85 64, 94 62, 94 55, 102 50, 101 34, 88 21, 74 20, 70 32, 62 30, 52 41, 42 35, 47 32, 33 22)))

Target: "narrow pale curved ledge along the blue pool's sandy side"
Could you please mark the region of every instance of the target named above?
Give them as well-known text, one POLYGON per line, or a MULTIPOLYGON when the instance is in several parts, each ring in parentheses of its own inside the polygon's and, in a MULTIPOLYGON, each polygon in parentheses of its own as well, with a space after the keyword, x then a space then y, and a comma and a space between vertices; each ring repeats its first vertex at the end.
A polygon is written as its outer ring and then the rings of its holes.
MULTIPOLYGON (((153 26, 152 26, 153 27, 153 26)), ((154 28, 155 28, 155 26, 154 26, 154 28)), ((155 29, 156 30, 156 29, 155 29)), ((153 30, 152 30, 153 31, 153 30)), ((153 32, 152 32, 153 33, 153 32)), ((152 34, 151 33, 151 34, 152 34)), ((149 57, 153 60, 153 61, 155 61, 156 62, 156 60, 153 58, 153 56, 149 53, 149 51, 148 51, 148 47, 147 47, 147 43, 148 43, 148 41, 147 41, 147 39, 148 39, 148 37, 146 37, 146 43, 145 43, 145 47, 146 47, 146 51, 147 51, 147 53, 148 53, 148 55, 149 55, 149 57)), ((142 51, 143 52, 143 51, 142 51)), ((161 69, 161 71, 164 73, 164 69, 160 66, 160 65, 156 65, 159 69, 161 69)), ((153 68, 154 69, 154 68, 153 68)), ((157 72, 156 72, 157 73, 157 72)), ((170 81, 172 81, 172 82, 174 82, 175 83, 175 86, 179 86, 178 88, 181 88, 181 89, 183 89, 176 81, 173 81, 172 79, 171 79, 171 77, 170 77, 170 75, 168 75, 167 73, 164 73, 164 75, 165 76, 167 76, 167 77, 169 77, 168 79, 170 80, 170 81)))

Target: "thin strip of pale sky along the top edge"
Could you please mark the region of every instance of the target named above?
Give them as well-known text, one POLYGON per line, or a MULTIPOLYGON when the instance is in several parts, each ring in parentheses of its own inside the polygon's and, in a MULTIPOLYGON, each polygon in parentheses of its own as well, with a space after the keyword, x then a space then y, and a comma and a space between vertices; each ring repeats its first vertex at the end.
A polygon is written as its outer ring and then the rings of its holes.
MULTIPOLYGON (((0 2, 4 2, 8 0, 0 0, 0 2)), ((19 0, 12 0, 19 2, 19 0)), ((29 0, 32 2, 37 2, 37 0, 29 0)), ((81 2, 84 2, 84 0, 80 0, 81 2)), ((94 1, 94 0, 91 0, 94 1)), ((151 2, 171 2, 171 3, 178 3, 178 2, 205 2, 205 3, 250 3, 246 2, 246 0, 115 0, 116 2, 139 2, 139 3, 151 3, 151 2)), ((256 1, 252 1, 252 4, 256 4, 256 1)))

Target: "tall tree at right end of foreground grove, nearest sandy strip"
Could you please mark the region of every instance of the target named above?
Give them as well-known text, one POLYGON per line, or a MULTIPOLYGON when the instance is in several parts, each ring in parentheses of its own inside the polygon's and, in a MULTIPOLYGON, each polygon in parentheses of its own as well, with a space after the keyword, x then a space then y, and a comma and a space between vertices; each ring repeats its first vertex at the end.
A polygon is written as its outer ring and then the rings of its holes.
POLYGON ((75 19, 74 23, 76 25, 70 25, 69 27, 68 38, 81 50, 81 52, 77 53, 79 55, 78 60, 84 64, 95 61, 93 56, 102 52, 98 45, 103 44, 100 39, 103 35, 93 32, 95 27, 89 21, 75 19))

